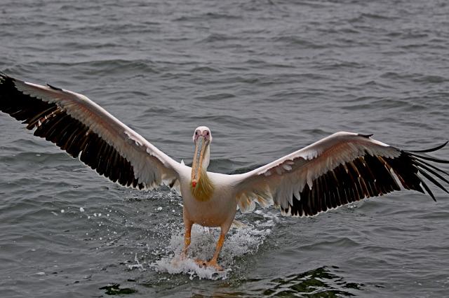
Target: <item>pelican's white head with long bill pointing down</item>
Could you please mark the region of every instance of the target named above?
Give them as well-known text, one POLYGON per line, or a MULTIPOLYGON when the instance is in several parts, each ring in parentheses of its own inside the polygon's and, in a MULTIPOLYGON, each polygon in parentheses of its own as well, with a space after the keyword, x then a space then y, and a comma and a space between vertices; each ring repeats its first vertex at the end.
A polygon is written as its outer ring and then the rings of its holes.
POLYGON ((201 178, 202 172, 206 173, 210 160, 210 142, 212 142, 212 134, 210 129, 205 126, 196 127, 194 136, 195 155, 192 164, 192 187, 196 187, 201 178))

